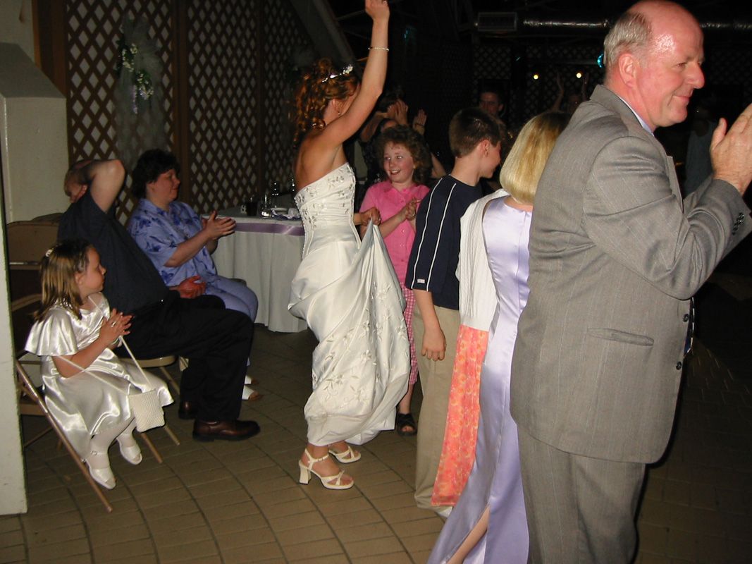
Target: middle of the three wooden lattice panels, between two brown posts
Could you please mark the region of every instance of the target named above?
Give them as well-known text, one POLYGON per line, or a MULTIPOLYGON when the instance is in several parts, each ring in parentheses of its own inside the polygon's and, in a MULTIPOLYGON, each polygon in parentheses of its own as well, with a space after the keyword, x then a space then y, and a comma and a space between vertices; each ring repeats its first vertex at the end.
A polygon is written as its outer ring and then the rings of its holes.
POLYGON ((258 181, 256 4, 192 2, 188 10, 193 205, 202 211, 237 205, 258 181))

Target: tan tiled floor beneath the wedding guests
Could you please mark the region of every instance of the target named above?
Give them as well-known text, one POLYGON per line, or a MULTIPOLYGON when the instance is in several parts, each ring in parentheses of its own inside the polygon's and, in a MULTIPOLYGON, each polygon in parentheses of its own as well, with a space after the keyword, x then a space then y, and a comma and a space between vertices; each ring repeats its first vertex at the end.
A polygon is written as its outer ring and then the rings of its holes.
MULTIPOLYGON (((351 490, 297 483, 314 345, 309 332, 256 332, 252 372, 265 397, 243 407, 262 427, 256 438, 194 442, 172 406, 182 444, 150 432, 164 464, 144 448, 131 466, 113 447, 111 514, 51 435, 32 444, 29 513, 0 517, 0 562, 425 562, 443 522, 414 507, 414 438, 384 432, 365 445, 347 466, 351 490)), ((687 364, 671 450, 647 478, 637 562, 750 562, 750 374, 702 343, 687 364)))

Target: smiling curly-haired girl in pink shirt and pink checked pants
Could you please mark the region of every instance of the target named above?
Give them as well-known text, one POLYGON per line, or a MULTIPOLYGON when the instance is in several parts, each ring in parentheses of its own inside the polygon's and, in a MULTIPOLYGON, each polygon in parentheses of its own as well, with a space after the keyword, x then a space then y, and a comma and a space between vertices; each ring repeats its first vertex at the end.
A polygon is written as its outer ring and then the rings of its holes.
MULTIPOLYGON (((368 188, 360 206, 361 211, 378 208, 381 212, 381 236, 387 246, 394 271, 405 294, 405 322, 410 338, 410 380, 408 393, 399 402, 395 429, 400 435, 417 434, 415 420, 410 413, 410 400, 418 378, 415 340, 413 338, 413 291, 405 287, 408 259, 415 239, 415 212, 420 200, 429 192, 423 182, 431 170, 431 153, 420 133, 408 126, 385 129, 375 147, 376 158, 384 165, 387 180, 368 188)), ((361 236, 365 226, 360 226, 361 236)))

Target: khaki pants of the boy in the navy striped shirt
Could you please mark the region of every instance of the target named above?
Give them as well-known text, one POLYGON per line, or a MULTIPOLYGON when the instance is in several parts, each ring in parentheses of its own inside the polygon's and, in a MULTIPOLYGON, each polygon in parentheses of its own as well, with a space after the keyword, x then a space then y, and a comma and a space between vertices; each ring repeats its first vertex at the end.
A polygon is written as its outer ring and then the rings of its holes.
POLYGON ((444 360, 429 360, 420 354, 426 327, 418 308, 413 317, 415 350, 418 356, 420 387, 423 390, 423 404, 418 418, 417 460, 415 463, 415 502, 421 509, 441 511, 443 506, 431 505, 433 484, 436 481, 441 447, 444 445, 444 429, 447 424, 449 390, 452 385, 452 371, 456 354, 457 333, 459 333, 459 311, 436 308, 436 316, 447 350, 444 360))

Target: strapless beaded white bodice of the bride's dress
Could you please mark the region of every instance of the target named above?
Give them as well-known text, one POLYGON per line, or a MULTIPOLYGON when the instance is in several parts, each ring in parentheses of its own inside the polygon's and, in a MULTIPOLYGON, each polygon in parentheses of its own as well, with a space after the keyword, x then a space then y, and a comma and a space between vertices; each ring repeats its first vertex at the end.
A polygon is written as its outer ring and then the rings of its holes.
POLYGON ((354 196, 355 173, 347 162, 296 194, 305 229, 303 256, 320 244, 358 238, 353 225, 354 196))

